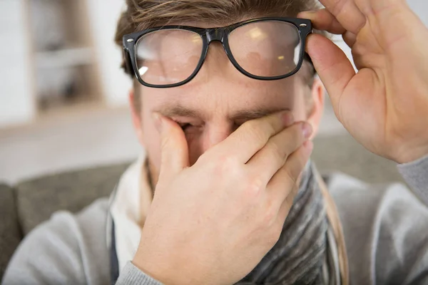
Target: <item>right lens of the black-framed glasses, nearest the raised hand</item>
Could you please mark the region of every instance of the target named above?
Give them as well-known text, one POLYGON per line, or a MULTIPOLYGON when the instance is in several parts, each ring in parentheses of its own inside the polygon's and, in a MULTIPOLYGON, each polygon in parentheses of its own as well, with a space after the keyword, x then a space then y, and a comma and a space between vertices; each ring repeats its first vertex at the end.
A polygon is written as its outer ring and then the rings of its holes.
POLYGON ((284 21, 240 26, 230 33, 229 46, 235 61, 253 76, 285 76, 295 71, 301 60, 299 31, 284 21))

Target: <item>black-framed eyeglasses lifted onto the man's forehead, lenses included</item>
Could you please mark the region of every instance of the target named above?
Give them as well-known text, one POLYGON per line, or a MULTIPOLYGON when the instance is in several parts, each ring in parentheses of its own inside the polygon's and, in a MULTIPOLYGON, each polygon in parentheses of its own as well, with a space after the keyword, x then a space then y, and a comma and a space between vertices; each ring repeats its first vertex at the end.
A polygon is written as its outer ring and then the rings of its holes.
POLYGON ((221 28, 162 26, 123 36, 126 67, 143 86, 170 88, 191 81, 213 41, 245 76, 272 81, 297 73, 312 32, 307 19, 260 18, 221 28))

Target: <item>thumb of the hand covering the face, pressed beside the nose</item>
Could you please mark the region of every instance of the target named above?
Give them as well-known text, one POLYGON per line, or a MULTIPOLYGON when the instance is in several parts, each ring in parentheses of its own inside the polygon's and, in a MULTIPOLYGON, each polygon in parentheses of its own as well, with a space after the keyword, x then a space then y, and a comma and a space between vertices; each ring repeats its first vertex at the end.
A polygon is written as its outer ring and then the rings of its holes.
POLYGON ((159 181, 170 180, 189 166, 188 143, 180 126, 159 113, 153 113, 161 135, 161 170, 159 181))

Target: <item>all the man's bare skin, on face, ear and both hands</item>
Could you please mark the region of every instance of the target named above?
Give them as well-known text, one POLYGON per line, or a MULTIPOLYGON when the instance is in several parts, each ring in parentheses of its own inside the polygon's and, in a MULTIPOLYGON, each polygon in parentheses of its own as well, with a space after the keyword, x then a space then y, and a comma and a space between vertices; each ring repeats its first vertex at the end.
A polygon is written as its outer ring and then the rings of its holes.
MULTIPOLYGON (((300 16, 342 33, 359 69, 355 73, 326 38, 308 38, 307 52, 339 120, 377 155, 399 163, 427 155, 427 28, 404 0, 322 4, 326 10, 300 16)), ((143 110, 133 120, 159 179, 136 266, 165 284, 233 284, 258 264, 279 237, 312 149, 313 132, 294 122, 307 120, 316 130, 322 113, 317 83, 315 108, 305 116, 297 78, 252 81, 229 66, 220 48, 211 48, 188 86, 143 89, 143 110), (153 118, 153 111, 170 115, 165 103, 198 108, 198 116, 185 120, 200 127, 185 134, 173 122, 178 118, 153 118), (246 116, 242 125, 231 119, 243 109, 278 108, 290 112, 246 116)))

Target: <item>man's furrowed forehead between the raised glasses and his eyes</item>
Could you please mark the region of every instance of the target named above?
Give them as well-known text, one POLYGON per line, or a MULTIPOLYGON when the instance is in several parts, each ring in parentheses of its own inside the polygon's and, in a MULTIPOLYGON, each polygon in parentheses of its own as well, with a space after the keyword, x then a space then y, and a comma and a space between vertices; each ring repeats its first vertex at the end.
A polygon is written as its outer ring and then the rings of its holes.
MULTIPOLYGON (((240 77, 240 74, 237 76, 240 77)), ((251 120, 280 110, 292 110, 295 80, 256 81, 252 78, 195 78, 178 88, 144 88, 143 108, 170 118, 251 120)))

